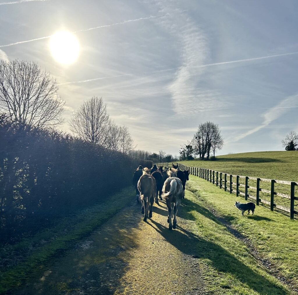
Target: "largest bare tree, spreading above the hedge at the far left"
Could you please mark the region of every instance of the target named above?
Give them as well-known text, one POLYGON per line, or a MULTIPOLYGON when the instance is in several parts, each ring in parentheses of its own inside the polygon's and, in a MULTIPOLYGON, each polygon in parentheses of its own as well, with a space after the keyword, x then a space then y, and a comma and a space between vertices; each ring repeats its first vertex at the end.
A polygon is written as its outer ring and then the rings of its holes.
POLYGON ((28 61, 0 61, 0 109, 12 122, 55 126, 63 122, 64 102, 49 72, 28 61))

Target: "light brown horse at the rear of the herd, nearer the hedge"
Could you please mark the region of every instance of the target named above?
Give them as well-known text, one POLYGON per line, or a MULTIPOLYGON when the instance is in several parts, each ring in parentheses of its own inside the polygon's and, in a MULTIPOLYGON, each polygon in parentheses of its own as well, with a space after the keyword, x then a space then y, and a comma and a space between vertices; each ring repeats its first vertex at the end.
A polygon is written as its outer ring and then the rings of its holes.
POLYGON ((143 169, 143 175, 138 182, 138 189, 142 201, 142 214, 144 214, 144 221, 152 217, 152 206, 156 195, 156 180, 152 175, 149 175, 143 169), (150 212, 148 214, 148 207, 151 204, 150 212))

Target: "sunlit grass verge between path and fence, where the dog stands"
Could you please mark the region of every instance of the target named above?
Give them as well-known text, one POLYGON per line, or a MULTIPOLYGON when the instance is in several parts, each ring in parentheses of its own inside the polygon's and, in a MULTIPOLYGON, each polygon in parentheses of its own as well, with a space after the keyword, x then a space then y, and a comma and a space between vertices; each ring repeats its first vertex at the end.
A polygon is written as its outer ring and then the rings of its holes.
MULTIPOLYGON (((247 283, 254 282, 257 278, 254 262, 250 261, 248 255, 243 254, 243 250, 246 247, 240 242, 238 245, 234 244, 232 246, 232 242, 229 240, 229 235, 226 234, 226 231, 219 231, 220 227, 207 222, 207 219, 215 220, 212 214, 213 209, 216 214, 232 224, 233 228, 249 238, 254 248, 257 249, 257 258, 269 260, 271 264, 269 267, 272 270, 278 271, 278 276, 285 277, 288 282, 296 286, 294 288, 297 288, 298 265, 295 262, 297 257, 297 220, 290 220, 290 218, 267 210, 262 206, 256 208, 254 215, 245 214, 242 217, 241 212, 234 207, 235 201, 240 200, 240 197, 224 192, 206 180, 195 176, 190 176, 187 189, 190 192, 187 192, 186 198, 191 201, 195 200, 195 203, 200 205, 199 208, 194 208, 192 212, 193 218, 199 226, 199 232, 208 237, 210 241, 214 241, 215 244, 221 245, 221 247, 237 257, 239 261, 245 261, 244 264, 246 265, 249 263, 249 271, 246 269, 247 271, 244 274, 243 268, 240 268, 240 272, 237 273, 235 271, 234 275, 233 271, 229 270, 233 269, 229 265, 229 261, 222 264, 218 263, 220 267, 216 266, 215 268, 214 265, 208 263, 209 271, 208 268, 203 271, 207 273, 206 278, 210 280, 208 287, 210 291, 220 289, 222 285, 226 284, 227 293, 223 291, 222 294, 231 294, 234 292, 236 294, 246 294, 248 288, 238 290, 239 293, 236 292, 235 288, 237 286, 240 287, 236 283, 236 279, 240 279, 241 281, 241 278, 243 278, 247 283), (204 221, 203 217, 207 219, 204 221), (211 278, 208 275, 210 270, 211 273, 213 272, 211 278), (251 270, 254 271, 251 272, 251 270), (234 289, 234 292, 230 293, 232 291, 231 289, 234 289)), ((188 201, 185 202, 187 204, 188 201)), ((215 220, 215 223, 219 222, 215 220)), ((218 259, 222 260, 220 257, 218 259)), ((272 290, 263 290, 263 292, 261 294, 277 294, 272 293, 272 290)))

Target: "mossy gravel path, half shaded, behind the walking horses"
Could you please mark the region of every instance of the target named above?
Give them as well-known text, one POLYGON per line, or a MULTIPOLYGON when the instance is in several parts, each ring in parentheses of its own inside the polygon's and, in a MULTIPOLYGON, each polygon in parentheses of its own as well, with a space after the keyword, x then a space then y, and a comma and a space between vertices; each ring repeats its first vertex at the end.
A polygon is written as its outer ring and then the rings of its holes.
POLYGON ((193 222, 177 223, 168 230, 163 201, 147 223, 132 202, 16 294, 202 294, 193 222))

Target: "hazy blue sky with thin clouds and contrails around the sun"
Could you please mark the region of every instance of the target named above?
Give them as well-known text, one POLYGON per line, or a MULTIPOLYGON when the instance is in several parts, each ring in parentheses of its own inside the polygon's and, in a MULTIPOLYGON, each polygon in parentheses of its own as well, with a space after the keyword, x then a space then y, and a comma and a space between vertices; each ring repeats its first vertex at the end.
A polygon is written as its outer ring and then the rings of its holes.
POLYGON ((136 149, 178 155, 213 121, 225 141, 218 155, 283 150, 298 132, 297 11, 296 0, 0 0, 0 58, 57 79, 65 131, 98 96, 136 149), (49 50, 61 30, 79 42, 73 64, 49 50))

